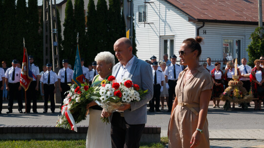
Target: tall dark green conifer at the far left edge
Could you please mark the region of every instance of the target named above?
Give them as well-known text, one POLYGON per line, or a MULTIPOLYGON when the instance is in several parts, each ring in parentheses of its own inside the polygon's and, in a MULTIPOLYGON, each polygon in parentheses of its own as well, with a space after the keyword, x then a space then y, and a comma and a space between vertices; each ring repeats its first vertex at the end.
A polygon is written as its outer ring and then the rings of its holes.
POLYGON ((2 31, 2 49, 1 55, 4 56, 8 66, 11 64, 11 60, 17 58, 22 59, 22 51, 19 52, 19 49, 16 48, 16 4, 15 0, 4 0, 3 1, 3 25, 1 28, 2 31))

